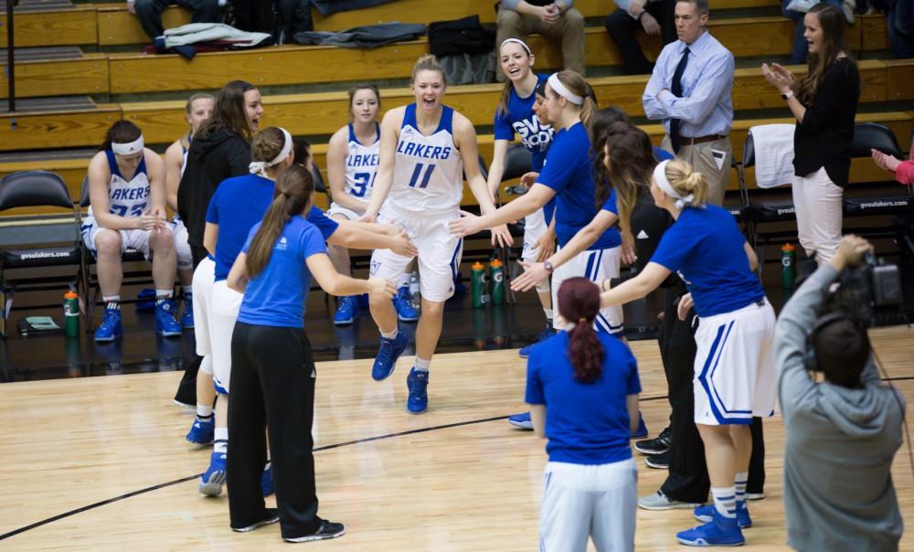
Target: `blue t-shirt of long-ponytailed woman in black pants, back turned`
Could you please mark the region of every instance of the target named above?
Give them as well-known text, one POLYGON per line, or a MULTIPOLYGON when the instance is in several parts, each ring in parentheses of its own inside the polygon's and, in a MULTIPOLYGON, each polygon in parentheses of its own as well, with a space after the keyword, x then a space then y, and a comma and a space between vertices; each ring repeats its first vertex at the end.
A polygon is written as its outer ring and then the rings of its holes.
MULTIPOLYGON (((250 249, 260 223, 250 228, 242 253, 250 249)), ((324 237, 303 217, 293 217, 273 245, 266 268, 248 282, 238 313, 239 322, 288 328, 304 327, 304 300, 311 289, 305 261, 326 253, 324 237)))

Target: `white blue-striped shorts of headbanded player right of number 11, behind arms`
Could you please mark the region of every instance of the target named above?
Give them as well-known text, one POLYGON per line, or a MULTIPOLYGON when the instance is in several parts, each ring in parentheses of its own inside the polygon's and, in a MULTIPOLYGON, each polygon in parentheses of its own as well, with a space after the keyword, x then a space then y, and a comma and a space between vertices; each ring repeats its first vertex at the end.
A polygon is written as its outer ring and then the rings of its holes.
MULTIPOLYGON (((558 288, 563 281, 575 276, 582 276, 600 285, 604 280, 619 278, 619 265, 621 262, 622 246, 616 246, 611 249, 581 251, 577 256, 572 257, 568 262, 552 272, 552 308, 558 309, 558 312, 561 313, 561 309, 558 306, 558 288)), ((559 316, 556 316, 552 325, 557 330, 565 327, 565 323, 560 320, 559 316)), ((622 305, 600 309, 596 320, 593 321, 593 326, 598 332, 624 334, 622 305)))

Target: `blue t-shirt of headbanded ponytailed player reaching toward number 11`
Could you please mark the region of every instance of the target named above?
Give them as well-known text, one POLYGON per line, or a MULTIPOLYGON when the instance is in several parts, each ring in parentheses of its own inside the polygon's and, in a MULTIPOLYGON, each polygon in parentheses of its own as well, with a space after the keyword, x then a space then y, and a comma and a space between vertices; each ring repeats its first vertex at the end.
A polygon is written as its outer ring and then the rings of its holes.
MULTIPOLYGON (((553 136, 546 155, 546 165, 537 183, 556 192, 556 237, 565 244, 597 215, 594 198, 593 164, 590 159, 590 137, 584 125, 576 123, 553 136)), ((622 244, 616 228, 603 232, 589 249, 610 249, 622 244)))

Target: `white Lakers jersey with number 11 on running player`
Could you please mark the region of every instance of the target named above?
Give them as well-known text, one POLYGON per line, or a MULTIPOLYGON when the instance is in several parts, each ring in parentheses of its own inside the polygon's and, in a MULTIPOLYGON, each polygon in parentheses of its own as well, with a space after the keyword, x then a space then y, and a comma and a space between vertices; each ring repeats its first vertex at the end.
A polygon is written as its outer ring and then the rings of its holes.
POLYGON ((454 111, 441 107, 441 122, 430 136, 419 131, 416 104, 403 115, 397 141, 394 181, 388 201, 399 211, 429 215, 451 213, 463 198, 463 163, 454 145, 454 111))

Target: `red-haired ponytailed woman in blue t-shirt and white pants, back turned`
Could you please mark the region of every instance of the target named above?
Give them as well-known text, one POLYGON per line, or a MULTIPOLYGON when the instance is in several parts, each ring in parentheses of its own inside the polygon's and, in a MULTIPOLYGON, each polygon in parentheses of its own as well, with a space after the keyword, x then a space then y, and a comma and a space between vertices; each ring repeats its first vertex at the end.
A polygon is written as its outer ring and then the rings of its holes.
POLYGON ((629 435, 638 427, 641 382, 632 351, 594 330, 600 289, 575 277, 558 289, 564 332, 534 345, 526 402, 549 442, 539 520, 540 550, 633 550, 638 471, 629 435))

